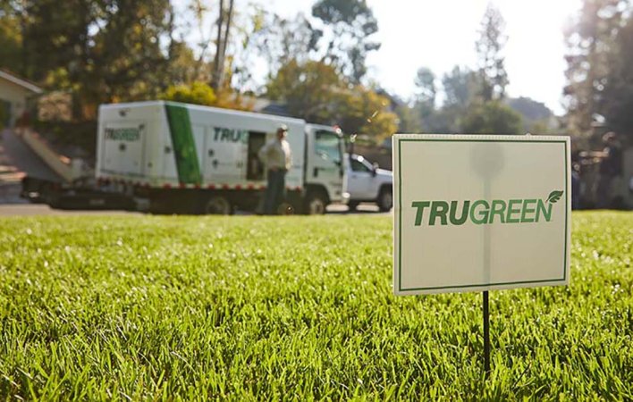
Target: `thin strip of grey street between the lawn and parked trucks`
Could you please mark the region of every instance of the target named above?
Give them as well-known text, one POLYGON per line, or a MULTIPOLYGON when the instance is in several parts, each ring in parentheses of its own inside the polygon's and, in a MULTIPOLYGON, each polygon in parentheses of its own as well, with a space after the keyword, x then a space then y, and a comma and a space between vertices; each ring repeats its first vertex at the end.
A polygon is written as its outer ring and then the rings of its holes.
MULTIPOLYGON (((330 205, 327 207, 328 214, 350 214, 347 206, 330 205)), ((0 216, 34 216, 34 215, 122 215, 122 214, 141 214, 129 211, 63 211, 60 209, 52 209, 44 204, 3 204, 0 205, 0 216)), ((359 210, 351 214, 364 214, 371 216, 379 216, 391 213, 381 213, 378 208, 373 205, 359 205, 359 210)))

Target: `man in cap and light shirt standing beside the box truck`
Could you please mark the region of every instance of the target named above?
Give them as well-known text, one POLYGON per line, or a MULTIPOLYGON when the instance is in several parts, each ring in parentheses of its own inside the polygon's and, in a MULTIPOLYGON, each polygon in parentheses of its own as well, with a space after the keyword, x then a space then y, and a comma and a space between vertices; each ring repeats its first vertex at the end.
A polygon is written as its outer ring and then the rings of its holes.
POLYGON ((282 124, 276 138, 259 150, 259 159, 266 166, 268 185, 264 196, 264 214, 275 214, 283 201, 286 188, 286 173, 291 168, 291 147, 286 140, 288 127, 282 124))

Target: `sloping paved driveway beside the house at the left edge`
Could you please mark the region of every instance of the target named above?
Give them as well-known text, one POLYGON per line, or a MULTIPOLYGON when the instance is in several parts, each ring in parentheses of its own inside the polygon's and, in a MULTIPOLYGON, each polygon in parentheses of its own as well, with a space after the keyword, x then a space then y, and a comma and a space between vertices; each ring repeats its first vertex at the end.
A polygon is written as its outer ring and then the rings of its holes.
POLYGON ((26 202, 20 198, 20 181, 27 174, 60 180, 12 130, 0 131, 0 205, 26 202))

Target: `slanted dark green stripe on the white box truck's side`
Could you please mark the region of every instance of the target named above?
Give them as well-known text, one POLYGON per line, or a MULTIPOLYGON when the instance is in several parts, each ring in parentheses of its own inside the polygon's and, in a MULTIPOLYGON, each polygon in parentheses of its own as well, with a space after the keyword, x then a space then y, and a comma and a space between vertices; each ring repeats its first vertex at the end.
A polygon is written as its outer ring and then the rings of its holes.
POLYGON ((165 105, 169 133, 172 136, 173 154, 176 157, 178 180, 181 183, 200 184, 200 164, 193 139, 189 111, 181 105, 165 105))

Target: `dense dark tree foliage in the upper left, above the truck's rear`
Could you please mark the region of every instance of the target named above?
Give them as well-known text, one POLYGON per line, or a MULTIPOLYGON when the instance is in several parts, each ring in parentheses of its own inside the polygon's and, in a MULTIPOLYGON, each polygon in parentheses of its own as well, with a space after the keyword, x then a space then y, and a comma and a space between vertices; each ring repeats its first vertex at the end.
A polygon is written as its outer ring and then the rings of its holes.
MULTIPOLYGON (((71 92, 78 121, 94 118, 99 103, 156 97, 168 85, 169 0, 23 0, 5 7, 20 20, 18 71, 71 92)), ((6 38, 0 32, 0 42, 6 38)))

